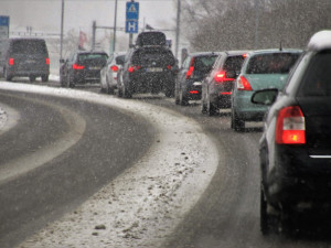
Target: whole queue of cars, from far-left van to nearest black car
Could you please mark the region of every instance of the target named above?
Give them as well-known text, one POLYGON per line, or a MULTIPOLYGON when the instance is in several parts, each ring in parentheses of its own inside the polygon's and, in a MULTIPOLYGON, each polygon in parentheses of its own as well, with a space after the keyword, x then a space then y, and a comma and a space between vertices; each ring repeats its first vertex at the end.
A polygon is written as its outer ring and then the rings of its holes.
MULTIPOLYGON (((1 41, 7 80, 49 80, 44 41, 1 41), (38 53, 24 54, 24 48, 38 53), (7 51, 4 51, 4 48, 7 51)), ((331 208, 331 31, 314 34, 305 51, 274 48, 192 53, 178 66, 162 32, 143 32, 127 53, 78 51, 63 60, 62 87, 96 83, 130 98, 163 93, 175 105, 201 100, 202 114, 231 109, 231 128, 264 121, 260 154, 260 230, 291 229, 303 212, 331 208), (321 209, 322 208, 322 209, 321 209)))

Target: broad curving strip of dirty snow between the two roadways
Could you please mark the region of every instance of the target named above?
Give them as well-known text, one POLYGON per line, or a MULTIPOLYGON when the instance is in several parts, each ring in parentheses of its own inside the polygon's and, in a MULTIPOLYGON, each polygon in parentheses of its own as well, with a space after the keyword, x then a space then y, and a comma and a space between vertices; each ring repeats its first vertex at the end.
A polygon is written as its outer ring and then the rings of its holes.
POLYGON ((212 138, 175 111, 73 89, 9 83, 0 88, 119 108, 141 115, 158 131, 150 150, 132 168, 19 247, 160 247, 203 194, 218 164, 212 138))

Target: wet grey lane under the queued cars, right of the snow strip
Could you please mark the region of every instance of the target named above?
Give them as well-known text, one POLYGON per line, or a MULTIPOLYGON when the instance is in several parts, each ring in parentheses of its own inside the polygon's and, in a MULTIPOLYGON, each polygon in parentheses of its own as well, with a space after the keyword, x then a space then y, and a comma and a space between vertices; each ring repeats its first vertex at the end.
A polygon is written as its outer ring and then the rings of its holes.
POLYGON ((316 234, 317 226, 310 226, 309 220, 299 236, 261 236, 258 158, 261 122, 247 122, 244 132, 235 132, 231 129, 228 109, 207 117, 201 114, 199 101, 181 107, 175 106, 173 99, 147 97, 146 100, 175 109, 200 122, 214 138, 221 157, 210 186, 163 247, 330 247, 328 229, 316 234))

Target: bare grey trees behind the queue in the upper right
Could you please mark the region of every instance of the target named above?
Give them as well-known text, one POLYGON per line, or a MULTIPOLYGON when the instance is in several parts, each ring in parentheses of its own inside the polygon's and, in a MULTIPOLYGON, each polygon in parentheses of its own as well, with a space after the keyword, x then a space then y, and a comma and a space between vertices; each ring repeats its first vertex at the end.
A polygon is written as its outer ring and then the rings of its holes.
POLYGON ((183 0, 182 30, 193 51, 303 48, 331 29, 331 0, 183 0))

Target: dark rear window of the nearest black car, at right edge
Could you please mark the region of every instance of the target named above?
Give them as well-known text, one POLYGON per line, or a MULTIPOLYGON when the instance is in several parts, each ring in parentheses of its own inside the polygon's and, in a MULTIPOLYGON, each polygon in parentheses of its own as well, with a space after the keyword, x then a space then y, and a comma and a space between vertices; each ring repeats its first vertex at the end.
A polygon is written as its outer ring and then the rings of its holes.
POLYGON ((331 96, 331 51, 324 51, 312 58, 300 88, 301 96, 331 96))

